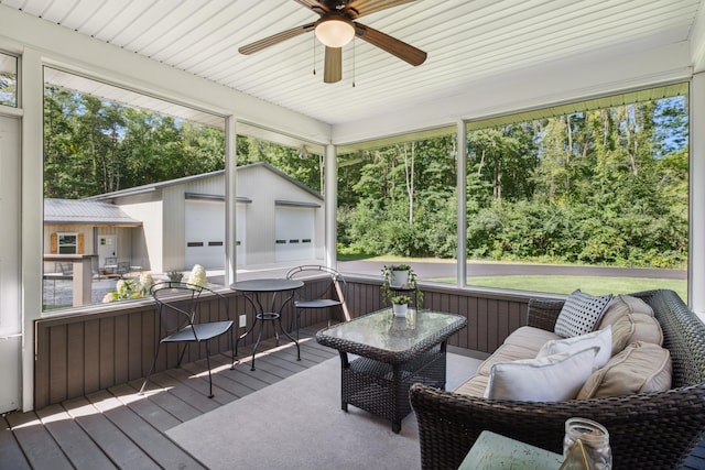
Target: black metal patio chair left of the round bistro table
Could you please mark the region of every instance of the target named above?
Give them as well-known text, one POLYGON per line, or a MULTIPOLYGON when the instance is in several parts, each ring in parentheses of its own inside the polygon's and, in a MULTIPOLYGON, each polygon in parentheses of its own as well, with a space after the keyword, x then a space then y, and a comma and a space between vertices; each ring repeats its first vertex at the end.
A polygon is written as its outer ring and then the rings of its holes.
MULTIPOLYGON (((209 321, 199 323, 199 305, 200 295, 206 292, 209 295, 219 297, 219 307, 225 307, 226 318, 230 318, 228 302, 221 295, 207 287, 200 287, 194 284, 181 283, 181 282, 161 282, 152 285, 150 294, 154 298, 158 305, 158 313, 160 318, 160 331, 162 338, 156 345, 156 352, 154 353, 154 361, 152 367, 144 378, 144 383, 140 389, 139 394, 143 394, 147 381, 154 371, 156 365, 156 359, 159 358, 159 351, 163 343, 170 342, 183 342, 183 349, 178 354, 178 362, 176 367, 181 367, 181 362, 184 359, 186 349, 192 343, 199 345, 204 342, 206 346, 206 364, 208 365, 208 384, 209 384, 209 398, 213 398, 213 378, 210 373, 210 340, 230 332, 230 350, 232 351, 232 364, 230 369, 235 369, 235 341, 232 339, 232 320, 223 321, 209 321)), ((219 310, 220 311, 220 310, 219 310)))

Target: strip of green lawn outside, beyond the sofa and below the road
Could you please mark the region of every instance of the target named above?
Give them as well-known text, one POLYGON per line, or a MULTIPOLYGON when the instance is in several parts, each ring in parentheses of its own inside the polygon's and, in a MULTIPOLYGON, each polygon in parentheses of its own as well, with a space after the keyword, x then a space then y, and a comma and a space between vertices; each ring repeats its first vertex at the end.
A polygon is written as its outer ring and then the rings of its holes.
MULTIPOLYGON (((455 278, 434 280, 455 284, 455 278)), ((468 285, 521 291, 570 294, 576 288, 593 295, 628 294, 653 288, 670 288, 681 298, 687 298, 685 280, 652 280, 643 277, 599 277, 599 276, 486 276, 468 277, 468 285)))

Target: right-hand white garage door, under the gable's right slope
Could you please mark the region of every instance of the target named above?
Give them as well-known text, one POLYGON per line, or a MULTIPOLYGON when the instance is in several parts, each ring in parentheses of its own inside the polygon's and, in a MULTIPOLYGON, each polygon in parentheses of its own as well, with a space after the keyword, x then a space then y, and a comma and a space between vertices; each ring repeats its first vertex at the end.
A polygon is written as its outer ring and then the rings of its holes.
POLYGON ((278 207, 275 216, 276 261, 313 260, 316 214, 311 207, 278 207))

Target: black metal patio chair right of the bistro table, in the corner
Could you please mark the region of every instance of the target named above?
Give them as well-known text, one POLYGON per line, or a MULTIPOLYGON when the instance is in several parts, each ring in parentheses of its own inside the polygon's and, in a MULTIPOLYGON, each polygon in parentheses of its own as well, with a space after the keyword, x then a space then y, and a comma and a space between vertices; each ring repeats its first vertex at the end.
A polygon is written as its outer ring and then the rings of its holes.
POLYGON ((333 267, 317 264, 306 264, 296 266, 289 271, 286 278, 290 280, 315 280, 326 277, 324 282, 308 282, 304 288, 296 292, 293 308, 296 327, 296 340, 299 340, 299 328, 301 325, 301 314, 306 310, 328 309, 328 326, 330 326, 332 310, 339 307, 345 320, 350 319, 348 307, 345 303, 347 283, 345 277, 333 267))

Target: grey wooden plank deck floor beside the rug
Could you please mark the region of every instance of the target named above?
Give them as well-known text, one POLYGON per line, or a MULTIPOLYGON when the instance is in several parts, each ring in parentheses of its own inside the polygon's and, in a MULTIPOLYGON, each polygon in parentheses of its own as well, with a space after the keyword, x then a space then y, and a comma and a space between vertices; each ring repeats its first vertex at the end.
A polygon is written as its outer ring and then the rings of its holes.
MULTIPOLYGON (((209 400, 205 361, 189 363, 150 379, 148 393, 138 396, 141 381, 69 400, 30 413, 2 416, 0 469, 204 469, 176 446, 165 431, 216 409, 296 372, 337 357, 318 345, 318 327, 301 331, 301 362, 285 338, 258 349, 250 371, 250 346, 238 351, 240 363, 230 370, 230 358, 214 359, 214 393, 209 400), (241 351, 241 352, 240 352, 241 351)), ((682 470, 705 468, 705 442, 695 449, 682 470)))

